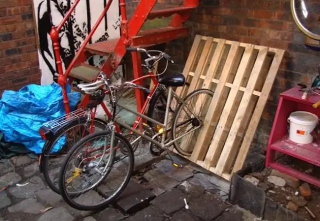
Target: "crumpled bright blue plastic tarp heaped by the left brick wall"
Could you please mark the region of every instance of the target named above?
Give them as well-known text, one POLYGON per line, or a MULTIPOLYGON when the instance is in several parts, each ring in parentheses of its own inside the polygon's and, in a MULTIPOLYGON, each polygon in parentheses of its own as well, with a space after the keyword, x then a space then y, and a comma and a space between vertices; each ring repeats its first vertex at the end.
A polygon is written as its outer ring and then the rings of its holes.
MULTIPOLYGON (((70 92, 67 87, 70 109, 74 110, 80 93, 70 92)), ((0 131, 6 142, 23 144, 28 150, 39 154, 45 141, 38 130, 45 123, 65 114, 62 89, 56 84, 29 84, 18 91, 6 90, 0 100, 0 131)), ((53 151, 65 143, 59 139, 53 151)))

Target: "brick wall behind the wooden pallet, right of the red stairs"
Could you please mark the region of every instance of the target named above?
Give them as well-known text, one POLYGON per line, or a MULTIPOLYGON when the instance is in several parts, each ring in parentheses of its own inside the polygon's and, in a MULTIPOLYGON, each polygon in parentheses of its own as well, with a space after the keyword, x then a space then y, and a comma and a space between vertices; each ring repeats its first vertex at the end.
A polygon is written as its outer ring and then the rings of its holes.
MULTIPOLYGON (((182 0, 158 0, 158 8, 171 7, 182 0)), ((127 0, 131 14, 138 0, 127 0)), ((269 47, 285 49, 287 53, 276 76, 271 94, 255 133, 253 148, 264 150, 279 93, 298 82, 309 83, 317 74, 320 53, 303 47, 301 34, 290 13, 289 0, 200 0, 186 25, 191 27, 191 36, 168 44, 167 50, 182 70, 194 34, 237 40, 269 47)))

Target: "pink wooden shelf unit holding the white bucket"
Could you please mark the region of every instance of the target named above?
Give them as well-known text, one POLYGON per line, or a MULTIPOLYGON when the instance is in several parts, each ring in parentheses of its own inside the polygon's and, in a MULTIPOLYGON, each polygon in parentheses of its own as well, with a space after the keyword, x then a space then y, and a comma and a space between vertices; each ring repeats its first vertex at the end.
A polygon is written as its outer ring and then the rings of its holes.
POLYGON ((280 94, 268 141, 265 166, 320 187, 320 179, 275 162, 275 153, 280 152, 310 164, 320 166, 320 142, 318 137, 315 137, 311 144, 303 145, 290 141, 287 136, 287 118, 290 113, 294 111, 308 111, 320 118, 320 108, 314 109, 312 107, 312 104, 320 101, 320 96, 308 95, 305 100, 302 100, 302 93, 303 92, 299 91, 299 87, 296 86, 280 94))

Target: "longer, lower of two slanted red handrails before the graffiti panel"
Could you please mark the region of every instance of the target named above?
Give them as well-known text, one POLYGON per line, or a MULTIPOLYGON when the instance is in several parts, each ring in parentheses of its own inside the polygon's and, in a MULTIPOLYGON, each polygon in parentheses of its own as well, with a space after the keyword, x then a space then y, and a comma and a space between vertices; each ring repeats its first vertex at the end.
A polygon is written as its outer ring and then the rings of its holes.
POLYGON ((79 50, 76 52, 74 58, 72 59, 72 61, 70 62, 70 65, 68 66, 68 68, 65 70, 65 73, 64 73, 64 77, 66 78, 71 69, 73 68, 76 60, 78 59, 78 57, 80 56, 80 54, 82 53, 82 51, 84 50, 85 46, 87 45, 87 43, 89 42, 90 38, 92 37, 92 35, 94 34, 96 28, 99 26, 99 24, 101 23, 101 20, 104 18, 105 16, 105 13, 107 12, 107 10, 109 9, 110 5, 112 3, 112 0, 108 0, 108 3, 105 5, 102 13, 100 14, 98 20, 95 22, 95 24, 93 25, 90 33, 88 34, 88 36, 84 39, 81 47, 79 48, 79 50))

